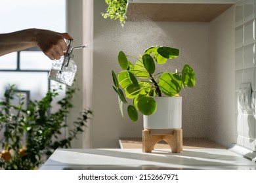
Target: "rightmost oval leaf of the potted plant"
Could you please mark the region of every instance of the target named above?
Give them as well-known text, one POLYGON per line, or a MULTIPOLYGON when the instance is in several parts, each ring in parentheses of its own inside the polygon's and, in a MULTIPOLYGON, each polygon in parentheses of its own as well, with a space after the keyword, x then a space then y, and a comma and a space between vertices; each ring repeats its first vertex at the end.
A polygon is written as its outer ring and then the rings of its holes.
POLYGON ((190 88, 193 88, 196 85, 196 75, 194 70, 187 64, 184 65, 182 69, 182 81, 190 88))

